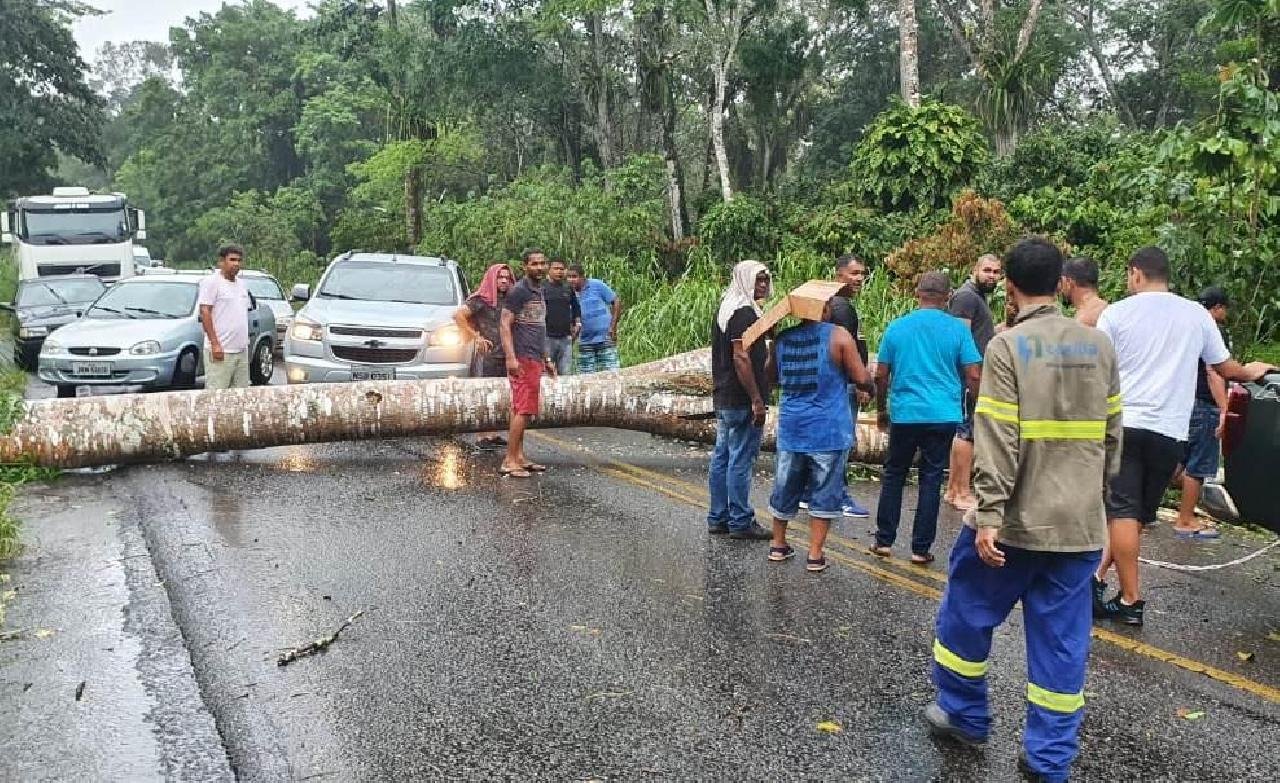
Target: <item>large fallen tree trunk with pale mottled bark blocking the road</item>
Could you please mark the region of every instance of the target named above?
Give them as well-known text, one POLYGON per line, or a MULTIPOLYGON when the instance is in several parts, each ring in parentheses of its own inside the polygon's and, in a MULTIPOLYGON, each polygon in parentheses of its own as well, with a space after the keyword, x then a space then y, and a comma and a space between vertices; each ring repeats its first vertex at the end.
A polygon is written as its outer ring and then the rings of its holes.
MULTIPOLYGON (((538 427, 616 427, 713 443, 710 352, 543 381, 538 427)), ((364 381, 115 394, 27 403, 0 462, 92 467, 211 450, 503 430, 506 379, 364 381)), ((855 458, 879 461, 861 432, 855 458)), ((769 432, 772 432, 772 422, 769 432)), ((772 443, 772 440, 771 440, 772 443)))

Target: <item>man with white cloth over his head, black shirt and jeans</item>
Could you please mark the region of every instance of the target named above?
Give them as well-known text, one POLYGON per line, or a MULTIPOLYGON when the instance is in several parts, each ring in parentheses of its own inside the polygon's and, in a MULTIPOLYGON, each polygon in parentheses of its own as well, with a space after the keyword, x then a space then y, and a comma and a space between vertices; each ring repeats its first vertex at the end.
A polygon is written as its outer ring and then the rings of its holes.
POLYGON ((707 526, 712 534, 764 541, 751 509, 751 467, 764 431, 764 400, 769 394, 764 340, 742 347, 742 334, 760 319, 759 302, 773 283, 759 261, 741 261, 721 298, 712 324, 712 380, 716 384, 716 452, 712 454, 710 509, 707 526))

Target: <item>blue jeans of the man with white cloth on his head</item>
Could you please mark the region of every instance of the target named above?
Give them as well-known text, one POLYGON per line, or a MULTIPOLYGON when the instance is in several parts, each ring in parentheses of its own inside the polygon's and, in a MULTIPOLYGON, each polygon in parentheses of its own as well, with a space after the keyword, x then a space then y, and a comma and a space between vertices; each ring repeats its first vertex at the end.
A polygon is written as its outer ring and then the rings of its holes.
POLYGON ((712 453, 707 525, 746 530, 755 522, 751 508, 751 466, 760 452, 764 427, 751 421, 750 408, 716 411, 716 450, 712 453))

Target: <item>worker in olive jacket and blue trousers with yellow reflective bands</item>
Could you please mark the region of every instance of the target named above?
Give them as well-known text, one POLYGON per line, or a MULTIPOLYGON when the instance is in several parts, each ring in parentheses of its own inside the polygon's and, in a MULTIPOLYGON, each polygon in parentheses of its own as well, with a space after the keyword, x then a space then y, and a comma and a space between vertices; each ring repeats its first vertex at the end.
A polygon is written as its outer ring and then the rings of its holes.
POLYGON ((978 508, 951 551, 924 716, 936 734, 987 739, 991 635, 1019 600, 1027 631, 1027 729, 1019 765, 1068 779, 1084 714, 1091 577, 1107 540, 1103 493, 1120 466, 1120 376, 1106 335, 1055 302, 1062 255, 1023 239, 1005 258, 1012 329, 987 348, 978 393, 978 508))

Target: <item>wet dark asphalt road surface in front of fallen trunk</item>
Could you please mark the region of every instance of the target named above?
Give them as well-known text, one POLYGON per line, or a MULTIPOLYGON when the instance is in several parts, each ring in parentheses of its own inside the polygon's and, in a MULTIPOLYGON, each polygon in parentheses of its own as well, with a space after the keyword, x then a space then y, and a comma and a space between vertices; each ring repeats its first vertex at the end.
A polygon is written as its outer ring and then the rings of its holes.
MULTIPOLYGON (((69 476, 46 508, 92 493, 138 531, 242 779, 1018 779, 1016 617, 992 655, 987 750, 937 746, 919 723, 941 564, 865 554, 869 521, 838 523, 823 574, 709 537, 701 447, 549 432, 529 450, 552 470, 515 480, 471 443, 69 476), (329 651, 275 665, 360 609, 329 651)), ((874 484, 855 494, 874 507, 874 484)), ((945 514, 940 563, 957 525, 945 514)), ((1175 542, 1164 526, 1147 554, 1219 562, 1257 545, 1175 542)), ((1075 779, 1280 779, 1280 558, 1144 578, 1147 627, 1094 642, 1075 779), (1188 670, 1203 665, 1238 679, 1188 670)))

